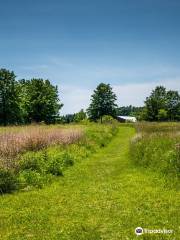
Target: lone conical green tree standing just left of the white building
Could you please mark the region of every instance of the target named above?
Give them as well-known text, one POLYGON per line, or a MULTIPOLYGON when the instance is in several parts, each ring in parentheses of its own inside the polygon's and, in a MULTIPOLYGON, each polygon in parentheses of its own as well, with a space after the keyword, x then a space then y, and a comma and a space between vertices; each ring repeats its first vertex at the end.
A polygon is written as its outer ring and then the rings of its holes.
POLYGON ((91 104, 87 110, 91 120, 96 121, 104 115, 116 116, 117 97, 112 91, 110 84, 100 83, 91 96, 91 104))

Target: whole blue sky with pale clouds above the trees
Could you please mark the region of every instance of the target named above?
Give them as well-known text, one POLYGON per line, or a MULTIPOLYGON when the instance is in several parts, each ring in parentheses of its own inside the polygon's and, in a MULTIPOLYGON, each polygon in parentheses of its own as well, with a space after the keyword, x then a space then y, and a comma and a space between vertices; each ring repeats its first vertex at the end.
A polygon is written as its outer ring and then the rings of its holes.
POLYGON ((180 90, 179 0, 1 1, 0 67, 59 86, 62 114, 89 104, 100 82, 119 105, 157 84, 180 90))

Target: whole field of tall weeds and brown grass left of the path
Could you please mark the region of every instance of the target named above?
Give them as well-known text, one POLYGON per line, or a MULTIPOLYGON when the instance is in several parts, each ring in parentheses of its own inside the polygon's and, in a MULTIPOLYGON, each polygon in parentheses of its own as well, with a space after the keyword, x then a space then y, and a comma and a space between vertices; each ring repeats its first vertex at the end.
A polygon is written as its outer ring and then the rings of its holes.
POLYGON ((101 124, 0 128, 0 192, 43 187, 115 133, 101 124))

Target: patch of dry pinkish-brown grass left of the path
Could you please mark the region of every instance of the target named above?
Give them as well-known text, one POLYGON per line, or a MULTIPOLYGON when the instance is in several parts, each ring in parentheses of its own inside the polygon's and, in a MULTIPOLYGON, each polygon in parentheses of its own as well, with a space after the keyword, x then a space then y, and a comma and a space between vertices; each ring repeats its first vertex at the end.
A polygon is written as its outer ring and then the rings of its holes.
POLYGON ((38 151, 52 145, 71 144, 82 136, 83 131, 78 128, 29 126, 3 129, 0 133, 0 165, 4 161, 10 164, 20 153, 38 151))

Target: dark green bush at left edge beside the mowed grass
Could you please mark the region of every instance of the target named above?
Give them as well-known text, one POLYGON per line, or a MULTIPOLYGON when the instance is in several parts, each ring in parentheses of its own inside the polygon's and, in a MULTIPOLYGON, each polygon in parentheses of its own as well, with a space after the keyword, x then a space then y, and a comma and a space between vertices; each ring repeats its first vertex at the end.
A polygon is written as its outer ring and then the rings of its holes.
POLYGON ((0 194, 9 193, 17 187, 17 179, 11 170, 0 169, 0 194))

